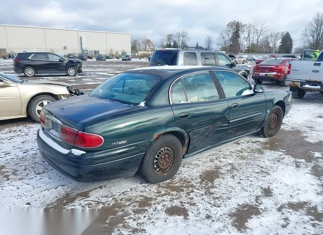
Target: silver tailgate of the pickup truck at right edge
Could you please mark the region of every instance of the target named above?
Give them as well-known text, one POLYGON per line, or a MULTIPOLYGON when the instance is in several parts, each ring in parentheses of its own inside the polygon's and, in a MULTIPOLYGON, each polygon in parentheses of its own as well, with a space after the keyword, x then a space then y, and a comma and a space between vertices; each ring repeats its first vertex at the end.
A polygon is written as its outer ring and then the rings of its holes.
POLYGON ((290 74, 287 79, 323 82, 323 62, 291 61, 290 74))

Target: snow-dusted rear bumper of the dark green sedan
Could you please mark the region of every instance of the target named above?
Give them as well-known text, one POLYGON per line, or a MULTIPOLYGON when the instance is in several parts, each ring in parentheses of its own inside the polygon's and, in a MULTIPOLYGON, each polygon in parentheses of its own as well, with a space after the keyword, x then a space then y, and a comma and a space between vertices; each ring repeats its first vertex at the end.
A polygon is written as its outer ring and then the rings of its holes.
MULTIPOLYGON (((55 169, 79 182, 95 182, 129 177, 138 170, 144 153, 138 151, 115 153, 106 150, 88 151, 75 156, 63 148, 53 148, 42 127, 37 131, 37 145, 41 156, 55 169), (42 132, 41 135, 39 132, 42 132), (60 151, 59 151, 60 150, 60 151)), ((120 152, 120 151, 119 151, 120 152)), ((122 151, 121 151, 122 152, 122 151)))

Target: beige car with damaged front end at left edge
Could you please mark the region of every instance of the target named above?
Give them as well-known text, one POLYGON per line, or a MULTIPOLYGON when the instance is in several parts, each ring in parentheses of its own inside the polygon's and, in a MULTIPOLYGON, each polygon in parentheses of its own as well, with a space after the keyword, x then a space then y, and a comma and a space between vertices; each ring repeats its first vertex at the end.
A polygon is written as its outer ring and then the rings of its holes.
POLYGON ((39 122, 44 105, 82 94, 67 83, 21 80, 0 73, 0 120, 30 116, 39 122))

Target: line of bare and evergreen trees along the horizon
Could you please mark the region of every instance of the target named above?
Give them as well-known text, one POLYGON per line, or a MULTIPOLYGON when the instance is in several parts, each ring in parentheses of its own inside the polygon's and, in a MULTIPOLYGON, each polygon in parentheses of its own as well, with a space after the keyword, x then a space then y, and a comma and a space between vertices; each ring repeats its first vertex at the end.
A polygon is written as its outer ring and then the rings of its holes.
MULTIPOLYGON (((169 33, 153 43, 148 38, 131 40, 132 53, 138 51, 154 51, 158 48, 179 48, 188 46, 191 39, 187 31, 169 33)), ((277 32, 266 28, 264 22, 243 24, 239 21, 230 21, 226 28, 220 32, 218 40, 219 50, 227 53, 292 53, 293 38, 288 31, 277 32)), ((323 12, 317 12, 308 22, 302 32, 303 44, 294 48, 294 53, 300 53, 302 49, 323 49, 323 12)), ((213 38, 207 35, 203 41, 206 49, 213 49, 213 38)), ((199 46, 198 41, 196 46, 199 46)))

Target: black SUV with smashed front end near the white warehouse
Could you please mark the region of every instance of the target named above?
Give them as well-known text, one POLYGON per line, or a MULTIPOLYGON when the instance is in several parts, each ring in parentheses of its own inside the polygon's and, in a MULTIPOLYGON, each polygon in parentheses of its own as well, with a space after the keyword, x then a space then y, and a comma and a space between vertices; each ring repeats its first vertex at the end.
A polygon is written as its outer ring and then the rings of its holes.
POLYGON ((82 61, 63 58, 49 52, 20 52, 14 58, 14 71, 25 77, 36 74, 67 74, 76 76, 82 73, 82 61))

